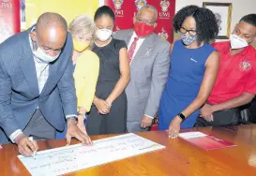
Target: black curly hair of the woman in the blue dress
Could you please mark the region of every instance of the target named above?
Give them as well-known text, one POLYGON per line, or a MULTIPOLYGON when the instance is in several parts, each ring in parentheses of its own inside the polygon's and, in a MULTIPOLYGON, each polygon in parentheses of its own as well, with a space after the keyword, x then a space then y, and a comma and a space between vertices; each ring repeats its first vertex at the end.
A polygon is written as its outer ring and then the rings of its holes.
POLYGON ((173 28, 178 32, 183 22, 189 17, 196 22, 197 43, 210 42, 218 36, 218 22, 214 13, 207 8, 187 6, 181 8, 173 18, 173 28))

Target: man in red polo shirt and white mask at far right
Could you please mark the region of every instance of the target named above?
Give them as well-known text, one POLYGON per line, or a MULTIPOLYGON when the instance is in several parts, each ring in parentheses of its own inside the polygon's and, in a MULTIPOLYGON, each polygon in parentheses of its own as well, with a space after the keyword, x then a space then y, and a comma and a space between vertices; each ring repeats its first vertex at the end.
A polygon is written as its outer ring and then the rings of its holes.
POLYGON ((256 14, 234 26, 230 41, 214 43, 220 54, 218 78, 195 126, 237 125, 240 110, 256 95, 256 14))

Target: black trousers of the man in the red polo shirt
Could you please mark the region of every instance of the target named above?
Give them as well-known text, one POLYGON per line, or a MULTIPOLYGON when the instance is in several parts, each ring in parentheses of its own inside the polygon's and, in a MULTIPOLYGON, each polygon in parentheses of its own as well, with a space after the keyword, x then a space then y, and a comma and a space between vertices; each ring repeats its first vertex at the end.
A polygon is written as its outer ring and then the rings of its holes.
POLYGON ((207 122, 202 117, 198 117, 194 127, 238 125, 240 119, 240 110, 219 110, 214 112, 213 116, 213 122, 207 122))

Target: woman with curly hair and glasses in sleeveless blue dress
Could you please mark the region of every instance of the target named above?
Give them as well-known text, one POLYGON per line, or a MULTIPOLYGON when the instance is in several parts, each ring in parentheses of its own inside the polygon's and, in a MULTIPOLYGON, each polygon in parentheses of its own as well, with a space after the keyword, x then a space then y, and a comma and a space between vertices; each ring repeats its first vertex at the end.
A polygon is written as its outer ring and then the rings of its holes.
POLYGON ((181 40, 173 44, 171 71, 159 107, 159 130, 176 138, 180 128, 193 127, 218 74, 218 51, 208 42, 218 36, 214 13, 188 6, 173 18, 181 40))

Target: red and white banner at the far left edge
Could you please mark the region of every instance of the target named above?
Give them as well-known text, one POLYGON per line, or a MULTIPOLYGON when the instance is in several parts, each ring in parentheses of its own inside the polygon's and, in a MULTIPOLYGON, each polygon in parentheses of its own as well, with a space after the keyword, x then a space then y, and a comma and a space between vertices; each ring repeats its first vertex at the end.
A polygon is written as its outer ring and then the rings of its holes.
POLYGON ((0 0, 0 43, 20 30, 20 0, 0 0))

